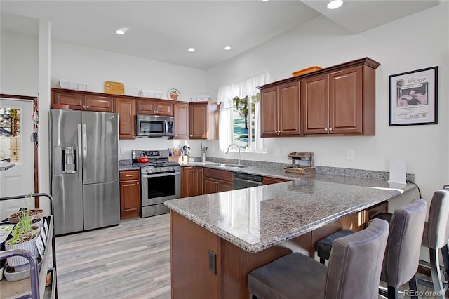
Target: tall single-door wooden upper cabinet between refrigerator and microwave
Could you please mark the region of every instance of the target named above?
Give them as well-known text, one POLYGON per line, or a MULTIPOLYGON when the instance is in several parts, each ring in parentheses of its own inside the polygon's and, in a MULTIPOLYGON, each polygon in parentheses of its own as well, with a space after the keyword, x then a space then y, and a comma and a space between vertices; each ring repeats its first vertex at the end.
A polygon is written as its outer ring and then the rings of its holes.
POLYGON ((119 139, 135 139, 135 100, 119 98, 115 110, 119 114, 119 139))

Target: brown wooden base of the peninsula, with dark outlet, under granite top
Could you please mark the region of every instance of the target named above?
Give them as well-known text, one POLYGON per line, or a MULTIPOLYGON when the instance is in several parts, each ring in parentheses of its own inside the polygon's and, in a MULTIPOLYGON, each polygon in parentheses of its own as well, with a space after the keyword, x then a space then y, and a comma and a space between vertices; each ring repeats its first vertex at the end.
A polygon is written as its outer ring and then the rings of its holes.
POLYGON ((274 246, 248 253, 182 215, 170 212, 172 298, 250 298, 248 274, 283 255, 288 248, 274 246), (209 254, 215 254, 215 273, 209 254))

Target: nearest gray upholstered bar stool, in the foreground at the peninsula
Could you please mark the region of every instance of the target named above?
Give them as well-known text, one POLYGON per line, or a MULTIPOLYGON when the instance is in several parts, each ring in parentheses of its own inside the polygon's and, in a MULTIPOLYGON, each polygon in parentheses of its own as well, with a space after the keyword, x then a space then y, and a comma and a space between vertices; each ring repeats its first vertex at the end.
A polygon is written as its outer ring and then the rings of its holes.
POLYGON ((388 232, 387 221, 376 219, 366 230, 335 240, 328 267, 290 253, 250 272, 249 291, 260 299, 377 299, 388 232))

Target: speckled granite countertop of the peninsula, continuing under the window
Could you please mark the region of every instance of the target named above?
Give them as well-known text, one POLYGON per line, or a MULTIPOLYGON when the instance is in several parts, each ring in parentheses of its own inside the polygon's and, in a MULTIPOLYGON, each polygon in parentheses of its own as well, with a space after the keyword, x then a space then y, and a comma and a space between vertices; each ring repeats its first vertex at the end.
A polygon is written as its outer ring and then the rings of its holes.
MULTIPOLYGON (((212 164, 208 167, 222 168, 212 164)), ((173 199, 165 204, 250 253, 293 239, 416 188, 413 184, 389 184, 386 180, 373 178, 323 174, 304 176, 280 170, 276 173, 274 169, 255 166, 239 168, 238 171, 292 181, 173 199)))

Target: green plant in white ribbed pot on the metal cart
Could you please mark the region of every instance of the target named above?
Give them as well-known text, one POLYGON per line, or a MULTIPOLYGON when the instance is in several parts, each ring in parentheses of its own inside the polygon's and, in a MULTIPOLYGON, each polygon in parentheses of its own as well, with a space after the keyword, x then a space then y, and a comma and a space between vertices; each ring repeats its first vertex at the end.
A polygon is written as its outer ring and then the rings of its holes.
MULTIPOLYGON (((40 228, 40 227, 37 227, 40 228)), ((38 251, 36 247, 36 237, 38 236, 37 230, 32 227, 32 219, 29 218, 29 209, 22 211, 22 217, 19 222, 14 226, 11 231, 11 239, 8 239, 5 243, 6 250, 11 249, 24 249, 31 252, 34 257, 37 258, 38 251)), ((7 259, 9 267, 18 267, 25 265, 28 262, 26 258, 22 256, 12 256, 7 259)))

